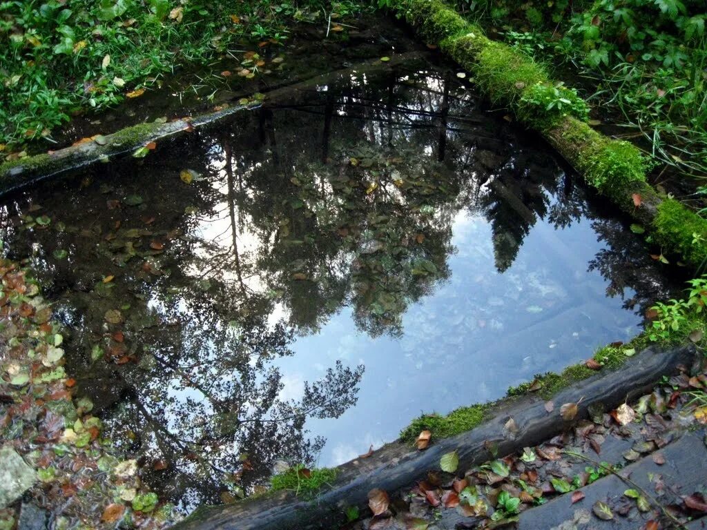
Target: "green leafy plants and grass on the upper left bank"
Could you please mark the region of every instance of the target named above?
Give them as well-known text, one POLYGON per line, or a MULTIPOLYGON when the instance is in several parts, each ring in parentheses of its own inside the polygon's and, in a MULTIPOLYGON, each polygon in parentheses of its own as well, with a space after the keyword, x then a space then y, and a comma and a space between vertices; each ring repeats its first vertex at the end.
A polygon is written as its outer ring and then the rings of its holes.
MULTIPOLYGON (((0 1, 0 154, 74 114, 116 105, 183 65, 207 65, 247 40, 281 42, 351 0, 0 1), (8 144, 6 146, 5 144, 8 144)), ((341 13, 339 13, 341 15, 341 13)))

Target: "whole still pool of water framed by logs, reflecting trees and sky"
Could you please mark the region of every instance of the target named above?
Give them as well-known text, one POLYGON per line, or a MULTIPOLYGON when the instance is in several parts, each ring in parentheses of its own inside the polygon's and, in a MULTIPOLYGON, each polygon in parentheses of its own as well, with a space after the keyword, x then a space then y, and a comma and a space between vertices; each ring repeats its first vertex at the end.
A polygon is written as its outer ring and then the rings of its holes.
POLYGON ((546 146, 431 66, 38 185, 1 222, 79 391, 185 510, 588 358, 666 293, 546 146))

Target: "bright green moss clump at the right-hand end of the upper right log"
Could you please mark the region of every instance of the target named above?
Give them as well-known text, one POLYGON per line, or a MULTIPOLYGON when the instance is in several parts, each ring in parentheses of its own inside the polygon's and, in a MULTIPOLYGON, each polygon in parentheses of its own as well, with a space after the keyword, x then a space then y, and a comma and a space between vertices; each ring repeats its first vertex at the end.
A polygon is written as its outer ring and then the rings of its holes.
POLYGON ((666 198, 658 205, 653 230, 660 245, 679 252, 692 264, 703 266, 707 262, 707 220, 679 201, 666 198))

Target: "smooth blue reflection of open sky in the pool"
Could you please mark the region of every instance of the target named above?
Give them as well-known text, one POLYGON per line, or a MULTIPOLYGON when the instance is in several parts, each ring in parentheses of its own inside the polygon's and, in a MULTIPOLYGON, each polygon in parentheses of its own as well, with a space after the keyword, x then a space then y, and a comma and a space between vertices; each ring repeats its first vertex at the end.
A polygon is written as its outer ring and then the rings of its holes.
POLYGON ((409 307, 402 338, 357 331, 346 307, 320 334, 298 338, 296 355, 279 361, 284 396, 293 398, 334 360, 366 365, 355 407, 337 420, 309 420, 312 434, 327 438, 320 465, 395 440, 420 413, 497 399, 511 385, 634 333, 640 319, 619 298, 606 298, 600 274, 587 271, 602 248, 587 220, 564 230, 539 221, 505 273, 493 264, 483 216, 462 211, 453 230, 452 276, 409 307))

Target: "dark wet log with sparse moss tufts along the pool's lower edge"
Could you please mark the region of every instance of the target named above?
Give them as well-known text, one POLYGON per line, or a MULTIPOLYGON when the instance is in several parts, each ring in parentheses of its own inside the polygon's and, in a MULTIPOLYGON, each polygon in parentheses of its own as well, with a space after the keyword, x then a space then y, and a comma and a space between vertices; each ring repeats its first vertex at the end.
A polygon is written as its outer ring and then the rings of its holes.
POLYGON ((565 403, 578 403, 576 420, 588 416, 588 408, 602 404, 607 410, 635 399, 653 388, 663 375, 689 367, 697 358, 694 346, 667 352, 646 349, 626 360, 615 371, 600 373, 559 391, 555 410, 548 413, 539 396, 507 398, 489 406, 491 418, 460 435, 433 440, 428 449, 417 451, 409 442, 393 442, 337 468, 337 478, 315 500, 300 500, 290 492, 267 493, 233 505, 205 507, 177 524, 181 530, 308 530, 338 529, 345 522, 347 507, 366 514, 368 491, 389 492, 414 483, 427 471, 438 470, 440 457, 456 450, 460 472, 491 459, 489 447, 499 456, 519 451, 571 428, 559 413, 565 403), (504 427, 513 418, 518 432, 504 427))

